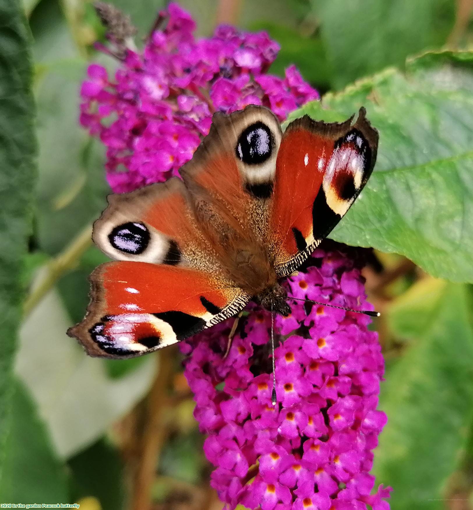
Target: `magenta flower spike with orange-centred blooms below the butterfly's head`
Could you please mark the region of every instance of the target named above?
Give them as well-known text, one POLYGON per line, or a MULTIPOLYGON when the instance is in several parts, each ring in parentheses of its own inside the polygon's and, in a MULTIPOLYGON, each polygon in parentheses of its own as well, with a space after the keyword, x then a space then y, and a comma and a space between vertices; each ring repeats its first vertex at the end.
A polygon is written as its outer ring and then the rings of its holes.
MULTIPOLYGON (((372 310, 359 268, 339 251, 316 250, 286 287, 291 297, 372 310)), ((388 509, 389 488, 370 495, 372 450, 387 420, 376 410, 384 360, 371 319, 301 301, 278 316, 273 407, 270 314, 247 310, 226 359, 233 319, 181 348, 221 500, 262 510, 388 509)))

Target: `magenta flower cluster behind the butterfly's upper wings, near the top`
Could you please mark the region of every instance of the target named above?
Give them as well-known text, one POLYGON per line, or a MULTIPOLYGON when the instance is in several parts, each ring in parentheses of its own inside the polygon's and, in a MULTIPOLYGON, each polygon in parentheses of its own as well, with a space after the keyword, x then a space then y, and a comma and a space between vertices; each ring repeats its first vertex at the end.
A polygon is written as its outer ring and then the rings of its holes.
POLYGON ((196 40, 194 20, 176 4, 160 15, 167 24, 143 52, 122 52, 114 78, 90 65, 81 88, 80 122, 106 145, 107 179, 117 193, 177 175, 216 110, 264 105, 283 120, 319 98, 295 66, 285 79, 266 74, 279 46, 265 32, 222 25, 213 37, 196 40))

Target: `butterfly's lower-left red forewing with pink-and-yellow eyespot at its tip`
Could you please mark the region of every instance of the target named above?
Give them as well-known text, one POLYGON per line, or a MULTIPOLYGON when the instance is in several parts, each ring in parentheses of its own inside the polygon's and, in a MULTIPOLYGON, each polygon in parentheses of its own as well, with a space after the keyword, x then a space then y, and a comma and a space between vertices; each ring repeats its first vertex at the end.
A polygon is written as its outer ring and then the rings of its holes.
POLYGON ((84 320, 70 328, 92 356, 132 358, 238 313, 250 296, 194 269, 146 262, 102 264, 90 275, 84 320))

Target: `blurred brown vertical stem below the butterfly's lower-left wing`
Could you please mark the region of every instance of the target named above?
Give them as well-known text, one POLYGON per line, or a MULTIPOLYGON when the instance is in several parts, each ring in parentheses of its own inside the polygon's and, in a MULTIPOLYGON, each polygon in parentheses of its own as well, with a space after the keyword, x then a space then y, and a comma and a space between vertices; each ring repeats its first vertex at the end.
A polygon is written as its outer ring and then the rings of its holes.
POLYGON ((151 489, 162 446, 167 437, 163 415, 167 409, 168 391, 173 375, 175 349, 167 347, 157 357, 158 373, 147 399, 145 424, 139 448, 138 466, 134 473, 132 510, 150 510, 151 489))

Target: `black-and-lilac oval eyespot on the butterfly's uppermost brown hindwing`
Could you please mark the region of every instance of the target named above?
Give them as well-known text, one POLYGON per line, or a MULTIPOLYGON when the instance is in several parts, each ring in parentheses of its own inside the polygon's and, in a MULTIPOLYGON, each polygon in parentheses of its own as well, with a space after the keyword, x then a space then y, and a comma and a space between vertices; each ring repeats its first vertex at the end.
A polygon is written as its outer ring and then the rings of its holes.
POLYGON ((264 163, 271 157, 274 136, 263 122, 249 125, 236 144, 236 157, 248 165, 264 163))

